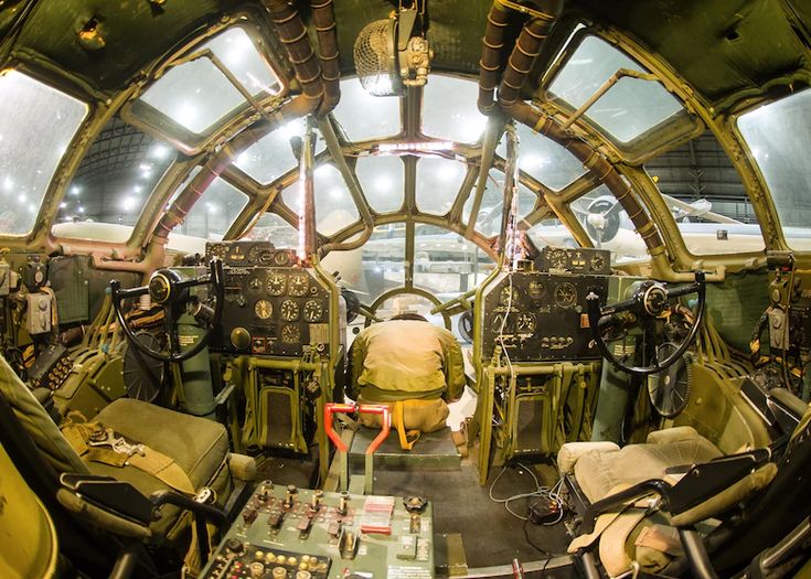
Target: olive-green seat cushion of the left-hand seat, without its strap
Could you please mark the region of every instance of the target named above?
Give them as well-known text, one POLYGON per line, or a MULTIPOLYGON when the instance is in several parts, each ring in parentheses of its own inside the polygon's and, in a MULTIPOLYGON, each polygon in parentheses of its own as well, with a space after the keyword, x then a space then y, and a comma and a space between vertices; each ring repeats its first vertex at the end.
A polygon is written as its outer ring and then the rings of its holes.
MULTIPOLYGON (((211 486, 218 502, 225 501, 230 487, 227 468, 224 468, 228 437, 223 425, 130 398, 115 400, 94 421, 172 458, 195 489, 211 486)), ((127 481, 147 496, 168 489, 160 480, 134 467, 98 462, 89 462, 87 467, 94 474, 127 481)), ((175 522, 178 508, 164 505, 161 513, 163 516, 152 525, 156 538, 162 537, 175 522)))

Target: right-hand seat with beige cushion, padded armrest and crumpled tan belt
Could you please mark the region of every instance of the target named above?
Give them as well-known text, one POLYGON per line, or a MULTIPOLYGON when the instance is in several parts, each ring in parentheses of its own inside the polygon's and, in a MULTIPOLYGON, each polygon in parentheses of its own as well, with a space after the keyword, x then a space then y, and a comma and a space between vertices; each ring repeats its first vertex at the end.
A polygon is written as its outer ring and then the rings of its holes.
MULTIPOLYGON (((613 442, 566 443, 558 452, 557 463, 561 475, 568 476, 569 482, 573 478, 587 503, 594 505, 643 481, 661 480, 675 485, 689 467, 722 457, 712 442, 684 426, 651 432, 645 443, 622 449, 613 442)), ((640 493, 636 501, 625 501, 601 514, 594 532, 576 537, 569 551, 598 545, 600 561, 610 576, 628 571, 634 560, 642 570, 659 572, 674 557, 683 555, 676 527, 692 528, 728 511, 767 486, 776 474, 777 465, 765 462, 739 481, 675 515, 658 510, 651 501, 653 493, 642 500, 644 493, 640 493)))

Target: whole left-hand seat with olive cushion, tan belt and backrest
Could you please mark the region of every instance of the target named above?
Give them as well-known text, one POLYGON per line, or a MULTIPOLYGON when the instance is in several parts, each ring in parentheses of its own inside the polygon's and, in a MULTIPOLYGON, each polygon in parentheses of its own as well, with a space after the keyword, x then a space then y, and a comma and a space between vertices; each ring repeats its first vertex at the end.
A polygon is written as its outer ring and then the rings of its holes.
MULTIPOLYGON (((213 420, 141 400, 119 398, 92 422, 70 416, 57 427, 2 357, 0 394, 3 446, 11 442, 11 446, 29 449, 22 454, 34 464, 35 478, 51 479, 45 489, 56 490, 56 498, 63 507, 78 515, 75 518, 81 523, 89 522, 90 526, 119 537, 135 536, 147 545, 183 553, 188 546, 185 530, 191 517, 179 506, 162 504, 160 516, 147 529, 139 529, 138 525, 128 525, 126 521, 110 516, 104 508, 83 501, 78 494, 53 481, 58 481, 65 473, 77 474, 79 479, 110 476, 130 483, 147 497, 159 491, 175 491, 191 497, 207 487, 211 502, 222 507, 233 489, 228 468, 233 457, 236 457, 233 462, 243 469, 241 478, 249 479, 252 469, 247 463, 253 460, 231 455, 226 430, 213 420), (83 431, 86 436, 82 435, 83 431)), ((36 487, 36 484, 32 486, 36 487)), ((43 497, 47 504, 46 498, 53 496, 43 497)), ((62 537, 61 542, 64 543, 62 537)))

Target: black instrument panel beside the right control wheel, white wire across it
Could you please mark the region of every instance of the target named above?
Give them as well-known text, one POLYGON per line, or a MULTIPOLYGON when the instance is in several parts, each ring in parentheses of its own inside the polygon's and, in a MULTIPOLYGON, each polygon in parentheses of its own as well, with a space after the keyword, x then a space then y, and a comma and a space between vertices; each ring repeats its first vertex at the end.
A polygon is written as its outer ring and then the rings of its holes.
POLYGON ((605 299, 608 277, 502 274, 484 293, 483 357, 500 345, 512 362, 599 358, 586 311, 590 292, 605 299))

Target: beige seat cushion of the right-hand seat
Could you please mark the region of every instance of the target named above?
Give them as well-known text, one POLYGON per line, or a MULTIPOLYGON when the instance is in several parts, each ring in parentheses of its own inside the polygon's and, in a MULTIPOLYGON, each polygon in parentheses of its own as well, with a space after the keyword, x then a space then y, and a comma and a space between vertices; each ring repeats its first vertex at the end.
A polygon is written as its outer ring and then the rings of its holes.
POLYGON ((632 486, 648 479, 669 480, 665 470, 671 467, 707 462, 721 455, 702 437, 664 444, 629 444, 616 451, 587 452, 575 464, 575 479, 594 503, 620 485, 632 486))

